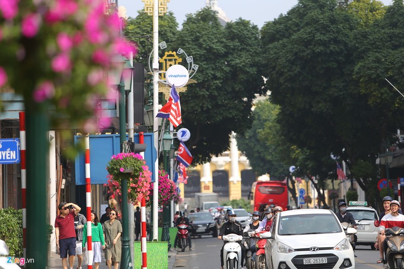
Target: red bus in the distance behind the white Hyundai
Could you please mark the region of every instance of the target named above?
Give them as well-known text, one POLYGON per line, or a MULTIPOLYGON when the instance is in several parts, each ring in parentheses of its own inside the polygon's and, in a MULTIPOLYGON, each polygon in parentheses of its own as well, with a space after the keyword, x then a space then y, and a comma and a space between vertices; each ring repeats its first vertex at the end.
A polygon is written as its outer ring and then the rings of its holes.
POLYGON ((254 201, 254 211, 258 210, 261 204, 280 205, 286 209, 288 194, 286 183, 282 181, 256 181, 252 183, 251 196, 254 201))

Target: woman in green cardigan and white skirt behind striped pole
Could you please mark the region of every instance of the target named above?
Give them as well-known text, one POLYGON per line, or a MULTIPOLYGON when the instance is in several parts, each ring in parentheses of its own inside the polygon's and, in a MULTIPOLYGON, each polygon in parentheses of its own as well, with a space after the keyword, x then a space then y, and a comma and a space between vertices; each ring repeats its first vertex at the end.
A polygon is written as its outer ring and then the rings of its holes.
MULTIPOLYGON (((91 240, 92 240, 92 251, 93 251, 93 263, 94 269, 98 269, 99 263, 101 262, 101 253, 105 249, 104 233, 103 227, 99 223, 97 213, 91 210, 91 240)), ((87 248, 87 224, 84 225, 83 229, 83 251, 87 248)))

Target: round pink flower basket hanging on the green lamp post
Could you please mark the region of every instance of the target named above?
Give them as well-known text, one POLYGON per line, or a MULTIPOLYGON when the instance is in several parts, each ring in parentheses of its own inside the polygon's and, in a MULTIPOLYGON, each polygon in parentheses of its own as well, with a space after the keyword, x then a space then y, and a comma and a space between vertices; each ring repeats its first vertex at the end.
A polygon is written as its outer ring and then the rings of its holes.
POLYGON ((144 197, 148 200, 151 172, 140 154, 119 153, 111 157, 107 166, 109 193, 112 197, 121 196, 121 182, 128 182, 128 200, 132 204, 141 202, 144 197))

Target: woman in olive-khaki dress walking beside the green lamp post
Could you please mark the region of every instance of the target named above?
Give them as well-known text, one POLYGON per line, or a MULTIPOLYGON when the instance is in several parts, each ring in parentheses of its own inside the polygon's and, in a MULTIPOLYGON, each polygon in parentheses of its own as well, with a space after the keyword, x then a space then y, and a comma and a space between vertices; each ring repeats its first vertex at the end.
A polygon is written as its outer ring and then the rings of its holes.
POLYGON ((119 262, 121 261, 121 234, 122 224, 116 218, 118 211, 112 209, 110 212, 110 220, 103 224, 106 248, 105 259, 107 261, 108 268, 111 269, 112 262, 114 261, 114 268, 118 269, 119 262))

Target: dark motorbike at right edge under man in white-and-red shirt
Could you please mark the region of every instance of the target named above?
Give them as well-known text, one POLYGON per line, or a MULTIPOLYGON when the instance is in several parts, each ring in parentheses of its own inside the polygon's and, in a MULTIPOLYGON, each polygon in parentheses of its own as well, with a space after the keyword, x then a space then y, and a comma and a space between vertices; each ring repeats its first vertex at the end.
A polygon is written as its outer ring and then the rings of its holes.
POLYGON ((387 268, 404 268, 404 229, 392 227, 385 230, 387 268))

